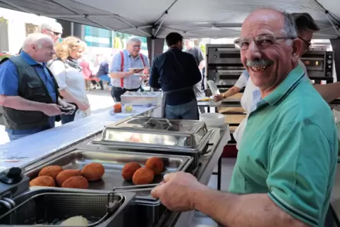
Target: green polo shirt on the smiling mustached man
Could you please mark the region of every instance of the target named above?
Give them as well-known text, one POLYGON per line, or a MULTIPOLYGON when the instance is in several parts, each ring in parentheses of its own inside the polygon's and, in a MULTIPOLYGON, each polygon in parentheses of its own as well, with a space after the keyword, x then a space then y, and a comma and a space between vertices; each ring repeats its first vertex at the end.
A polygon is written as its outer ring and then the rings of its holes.
POLYGON ((338 139, 332 111, 297 66, 250 113, 230 192, 267 193, 281 209, 324 226, 338 139))

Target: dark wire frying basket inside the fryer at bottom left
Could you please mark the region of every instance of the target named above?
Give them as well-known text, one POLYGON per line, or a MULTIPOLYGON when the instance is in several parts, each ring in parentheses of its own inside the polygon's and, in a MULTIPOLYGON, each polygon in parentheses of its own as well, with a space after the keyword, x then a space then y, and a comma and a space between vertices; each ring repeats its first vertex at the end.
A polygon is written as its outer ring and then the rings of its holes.
POLYGON ((6 225, 58 225, 72 216, 83 216, 89 226, 96 226, 109 217, 124 197, 114 194, 45 192, 30 197, 0 216, 6 225))

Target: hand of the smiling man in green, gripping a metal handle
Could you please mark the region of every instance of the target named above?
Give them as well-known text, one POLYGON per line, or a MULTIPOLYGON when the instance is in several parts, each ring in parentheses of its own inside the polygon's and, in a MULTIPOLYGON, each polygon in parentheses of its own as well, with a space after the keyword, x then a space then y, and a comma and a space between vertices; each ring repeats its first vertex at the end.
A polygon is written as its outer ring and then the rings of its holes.
POLYGON ((151 195, 159 198, 172 211, 189 211, 195 209, 195 192, 204 188, 206 186, 190 173, 169 173, 164 176, 164 183, 154 188, 151 195))

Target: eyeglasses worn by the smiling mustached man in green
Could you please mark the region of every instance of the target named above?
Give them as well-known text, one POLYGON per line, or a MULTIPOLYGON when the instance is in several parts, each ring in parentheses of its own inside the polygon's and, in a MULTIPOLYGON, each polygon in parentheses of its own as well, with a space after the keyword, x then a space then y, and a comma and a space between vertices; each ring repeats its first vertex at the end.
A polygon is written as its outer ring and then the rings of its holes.
POLYGON ((239 39, 236 39, 233 43, 238 47, 239 49, 245 50, 248 49, 250 42, 253 40, 255 41, 255 44, 259 48, 267 48, 272 46, 272 44, 277 43, 278 40, 287 40, 287 39, 296 39, 296 37, 274 37, 273 35, 260 35, 255 38, 250 37, 242 37, 239 39))

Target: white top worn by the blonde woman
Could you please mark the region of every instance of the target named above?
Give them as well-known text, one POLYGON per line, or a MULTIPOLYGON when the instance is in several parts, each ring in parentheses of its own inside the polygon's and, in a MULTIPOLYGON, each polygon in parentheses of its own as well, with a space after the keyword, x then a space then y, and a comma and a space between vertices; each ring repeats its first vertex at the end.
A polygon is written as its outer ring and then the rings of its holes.
MULTIPOLYGON (((68 92, 70 92, 75 99, 80 100, 80 102, 86 102, 87 95, 85 92, 83 73, 62 61, 54 61, 51 63, 51 66, 49 66, 49 69, 58 82, 59 90, 67 88, 68 92)), ((66 98, 65 101, 71 102, 71 100, 66 98)))

